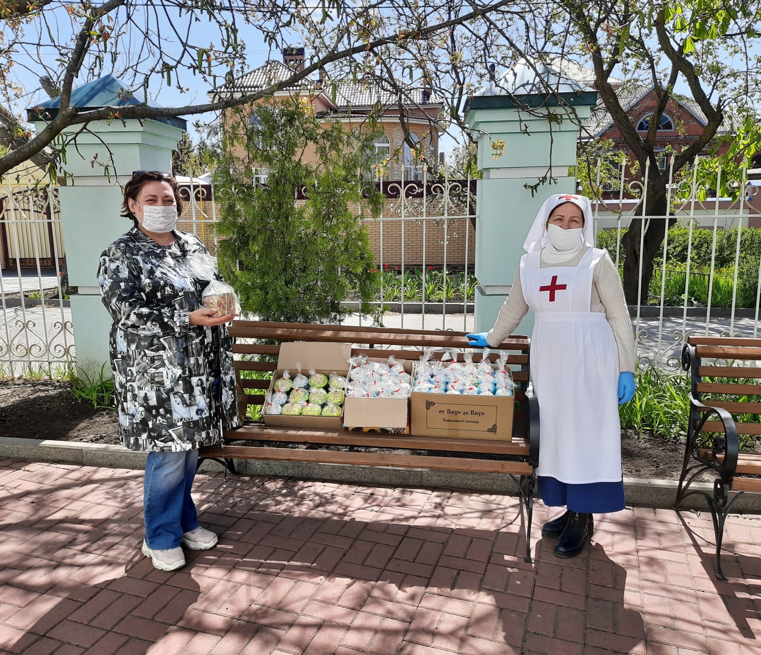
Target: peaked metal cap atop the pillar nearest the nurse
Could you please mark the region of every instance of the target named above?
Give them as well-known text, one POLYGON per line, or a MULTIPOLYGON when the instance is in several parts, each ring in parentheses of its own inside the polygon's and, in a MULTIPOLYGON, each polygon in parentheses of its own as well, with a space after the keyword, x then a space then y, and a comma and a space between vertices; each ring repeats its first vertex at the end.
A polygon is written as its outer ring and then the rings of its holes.
POLYGON ((594 106, 597 91, 562 75, 555 65, 520 59, 498 80, 466 101, 465 113, 474 109, 558 107, 560 104, 594 106), (562 101, 562 102, 561 102, 562 101))

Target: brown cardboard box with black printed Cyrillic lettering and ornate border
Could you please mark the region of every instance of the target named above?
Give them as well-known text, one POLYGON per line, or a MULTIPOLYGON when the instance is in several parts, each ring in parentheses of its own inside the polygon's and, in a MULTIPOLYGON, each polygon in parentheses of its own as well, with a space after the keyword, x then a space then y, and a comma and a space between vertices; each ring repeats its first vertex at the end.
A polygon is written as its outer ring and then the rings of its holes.
POLYGON ((512 396, 412 391, 409 401, 412 434, 459 439, 512 439, 514 406, 512 396))

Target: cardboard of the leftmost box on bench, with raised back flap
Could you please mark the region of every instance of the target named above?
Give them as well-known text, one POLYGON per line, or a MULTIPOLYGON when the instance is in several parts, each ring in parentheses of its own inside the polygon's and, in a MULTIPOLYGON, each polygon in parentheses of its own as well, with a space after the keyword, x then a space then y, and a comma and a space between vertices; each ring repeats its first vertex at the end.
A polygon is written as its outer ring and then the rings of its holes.
MULTIPOLYGON (((309 375, 309 370, 330 375, 337 372, 343 375, 346 362, 352 356, 350 343, 313 343, 310 341, 291 341, 280 344, 278 368, 269 383, 272 385, 285 369, 291 371, 291 378, 296 376, 296 362, 301 362, 301 372, 309 375)), ((282 414, 263 414, 264 424, 269 427, 292 427, 297 430, 343 430, 341 417, 337 416, 283 416, 282 414)))

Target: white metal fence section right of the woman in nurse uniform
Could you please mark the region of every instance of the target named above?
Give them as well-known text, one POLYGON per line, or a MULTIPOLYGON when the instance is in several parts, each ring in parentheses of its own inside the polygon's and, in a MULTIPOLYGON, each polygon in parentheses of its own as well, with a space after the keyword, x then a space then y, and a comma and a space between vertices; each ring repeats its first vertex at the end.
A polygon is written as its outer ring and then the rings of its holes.
POLYGON ((645 249, 647 230, 655 228, 662 235, 648 289, 643 289, 643 259, 639 259, 638 298, 630 305, 639 365, 677 371, 681 347, 691 335, 756 337, 761 298, 759 183, 750 180, 744 168, 737 179, 728 180, 719 166, 715 184, 709 184, 698 175, 697 158, 679 175, 674 174, 672 163, 667 184, 669 215, 642 216, 648 200, 649 166, 641 177, 630 180, 625 179, 622 167, 617 190, 607 193, 599 184, 601 166, 598 161, 598 195, 593 200, 597 242, 608 246, 619 270, 625 256, 622 235, 632 220, 643 221, 640 252, 645 249), (723 196, 722 189, 731 190, 731 197, 723 196), (721 254, 728 261, 720 267, 721 254))

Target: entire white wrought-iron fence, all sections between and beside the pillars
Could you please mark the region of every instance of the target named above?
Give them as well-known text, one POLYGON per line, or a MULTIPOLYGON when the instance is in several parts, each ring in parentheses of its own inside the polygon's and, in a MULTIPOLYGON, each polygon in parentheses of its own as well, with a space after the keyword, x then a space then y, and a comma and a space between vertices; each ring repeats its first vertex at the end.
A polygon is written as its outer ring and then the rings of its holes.
MULTIPOLYGON (((640 366, 676 371, 681 346, 691 334, 758 335, 761 203, 756 203, 756 184, 761 183, 743 171, 726 185, 718 171, 712 189, 692 168, 678 180, 671 175, 670 216, 642 217, 649 174, 645 168, 640 179, 627 181, 622 171, 615 191, 597 185, 594 219, 598 244, 619 266, 625 257, 622 237, 632 220, 643 219, 646 228, 656 225, 662 232, 653 280, 648 289, 638 285, 638 302, 630 311, 640 366), (717 193, 725 187, 735 190, 733 198, 717 193), (676 220, 673 228, 670 219, 676 220)), ((180 229, 199 235, 215 251, 219 209, 212 184, 192 176, 180 183, 186 204, 180 229)), ((379 184, 386 196, 383 212, 365 219, 381 278, 374 312, 360 315, 359 303, 347 299, 345 322, 472 330, 474 181, 451 180, 446 173, 432 177, 424 170, 421 180, 379 184)), ((75 358, 55 188, 0 186, 0 228, 0 373, 52 374, 75 358)), ((640 267, 638 282, 642 274, 640 267)))

